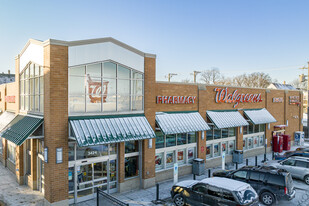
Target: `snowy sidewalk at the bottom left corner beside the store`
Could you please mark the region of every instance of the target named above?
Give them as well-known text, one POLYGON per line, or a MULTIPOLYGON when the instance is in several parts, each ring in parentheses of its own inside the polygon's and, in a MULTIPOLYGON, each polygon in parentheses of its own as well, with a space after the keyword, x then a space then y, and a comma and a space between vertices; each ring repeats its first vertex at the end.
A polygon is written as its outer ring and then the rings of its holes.
POLYGON ((0 163, 0 205, 41 206, 44 196, 26 185, 19 185, 14 175, 0 163))

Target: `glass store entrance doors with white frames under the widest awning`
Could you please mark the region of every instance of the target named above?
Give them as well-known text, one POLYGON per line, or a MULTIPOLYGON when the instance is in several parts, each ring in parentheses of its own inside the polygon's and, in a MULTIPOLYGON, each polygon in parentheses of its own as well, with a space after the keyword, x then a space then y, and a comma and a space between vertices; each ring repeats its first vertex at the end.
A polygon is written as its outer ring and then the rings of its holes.
POLYGON ((100 188, 107 193, 117 192, 117 160, 107 159, 92 163, 76 163, 75 178, 74 167, 69 168, 69 184, 75 182, 76 201, 82 202, 95 197, 96 189, 100 188), (70 173, 71 172, 71 173, 70 173))

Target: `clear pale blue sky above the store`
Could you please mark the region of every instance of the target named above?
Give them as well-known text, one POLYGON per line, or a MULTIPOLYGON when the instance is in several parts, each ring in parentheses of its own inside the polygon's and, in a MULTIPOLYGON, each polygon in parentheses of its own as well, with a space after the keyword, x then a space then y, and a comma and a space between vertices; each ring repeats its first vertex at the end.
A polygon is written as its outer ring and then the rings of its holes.
MULTIPOLYGON (((157 80, 266 72, 292 81, 309 61, 309 1, 14 1, 0 4, 0 72, 29 38, 114 37, 157 55, 157 80)), ((307 71, 306 71, 307 72, 307 71)))

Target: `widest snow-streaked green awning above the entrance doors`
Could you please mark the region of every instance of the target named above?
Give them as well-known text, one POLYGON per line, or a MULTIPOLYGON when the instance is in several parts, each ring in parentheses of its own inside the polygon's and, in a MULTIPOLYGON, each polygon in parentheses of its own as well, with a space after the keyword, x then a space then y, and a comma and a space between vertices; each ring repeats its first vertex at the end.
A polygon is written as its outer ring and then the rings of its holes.
POLYGON ((71 117, 69 122, 80 147, 155 137, 145 116, 71 117))

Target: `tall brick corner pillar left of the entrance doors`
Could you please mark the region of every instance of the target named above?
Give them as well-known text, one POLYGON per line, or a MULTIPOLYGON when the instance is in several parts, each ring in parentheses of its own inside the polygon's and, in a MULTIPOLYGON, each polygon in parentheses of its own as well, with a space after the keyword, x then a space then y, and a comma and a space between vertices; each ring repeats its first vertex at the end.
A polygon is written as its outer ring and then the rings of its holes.
POLYGON ((68 199, 68 47, 44 46, 44 165, 45 199, 49 203, 68 199), (56 164, 56 148, 63 163, 56 164))

